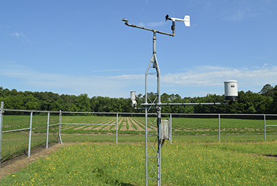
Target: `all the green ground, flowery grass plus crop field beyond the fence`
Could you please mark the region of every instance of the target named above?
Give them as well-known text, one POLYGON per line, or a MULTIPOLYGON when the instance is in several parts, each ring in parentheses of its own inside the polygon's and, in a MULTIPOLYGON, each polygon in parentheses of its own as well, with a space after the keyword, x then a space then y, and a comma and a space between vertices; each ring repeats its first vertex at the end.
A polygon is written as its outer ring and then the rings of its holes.
MULTIPOLYGON (((46 143, 46 121, 44 115, 33 118, 34 148, 46 143)), ((3 130, 29 123, 30 116, 6 115, 3 130)), ((59 116, 51 116, 50 124, 56 123, 59 116)), ((118 116, 116 144, 116 116, 63 115, 62 141, 76 144, 39 158, 0 185, 145 185, 144 123, 144 117, 118 116), (86 125, 91 123, 111 125, 86 125)), ((263 120, 222 118, 220 123, 222 143, 218 118, 172 118, 172 144, 166 142, 161 152, 162 185, 276 185, 277 128, 267 128, 265 143, 263 120)), ((57 143, 58 130, 58 125, 50 128, 49 143, 57 143)), ((8 160, 26 151, 27 133, 3 133, 2 156, 8 160)))

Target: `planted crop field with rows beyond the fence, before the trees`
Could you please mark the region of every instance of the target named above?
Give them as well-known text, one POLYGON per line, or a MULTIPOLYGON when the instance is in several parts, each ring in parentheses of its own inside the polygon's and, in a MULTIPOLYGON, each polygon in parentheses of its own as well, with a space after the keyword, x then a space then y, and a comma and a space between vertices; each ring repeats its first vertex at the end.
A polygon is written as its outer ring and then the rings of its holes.
MULTIPOLYGON (((59 123, 59 116, 50 117, 50 125, 59 123)), ((107 133, 116 131, 115 116, 62 116, 62 132, 69 133, 107 133), (84 123, 97 125, 70 125, 70 123, 84 123), (104 124, 104 125, 102 125, 104 124), (110 125, 106 125, 110 124, 110 125)), ((173 134, 217 134, 219 130, 218 118, 172 118, 173 134)), ((47 116, 33 116, 33 132, 46 132, 47 116)), ((277 125, 276 120, 268 120, 267 125, 277 125)), ((30 126, 30 116, 4 116, 3 131, 27 128, 30 126)), ((148 130, 156 128, 156 118, 148 119, 148 130)), ((145 118, 118 117, 120 134, 143 134, 145 118)), ((220 120, 221 134, 260 134, 264 132, 263 120, 222 118, 220 120)), ((277 133, 277 127, 267 127, 267 133, 277 133)))

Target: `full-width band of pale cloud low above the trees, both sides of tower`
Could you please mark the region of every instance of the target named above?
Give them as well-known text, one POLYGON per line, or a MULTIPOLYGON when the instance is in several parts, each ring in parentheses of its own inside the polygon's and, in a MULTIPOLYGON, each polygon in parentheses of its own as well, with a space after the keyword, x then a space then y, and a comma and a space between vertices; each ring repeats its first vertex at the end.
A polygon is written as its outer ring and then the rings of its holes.
MULTIPOLYGON (((87 93, 89 96, 110 97, 128 97, 129 90, 136 90, 138 94, 144 93, 145 74, 80 77, 46 73, 3 61, 0 61, 0 68, 0 76, 8 81, 16 79, 17 84, 25 86, 26 90, 75 95, 87 93)), ((161 89, 162 92, 182 96, 223 94, 223 82, 237 80, 239 90, 258 92, 267 83, 277 85, 276 76, 277 66, 269 64, 251 68, 199 66, 183 73, 161 74, 161 89)), ((148 76, 148 85, 148 90, 157 90, 156 76, 148 76)))

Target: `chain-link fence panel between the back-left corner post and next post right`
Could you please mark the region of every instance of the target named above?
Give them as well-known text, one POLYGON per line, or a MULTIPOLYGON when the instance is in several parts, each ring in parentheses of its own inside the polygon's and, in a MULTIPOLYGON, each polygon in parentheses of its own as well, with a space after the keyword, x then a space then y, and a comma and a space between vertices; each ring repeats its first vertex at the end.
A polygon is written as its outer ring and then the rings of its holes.
POLYGON ((62 141, 103 141, 100 136, 105 136, 117 143, 121 120, 111 112, 62 112, 62 141))

